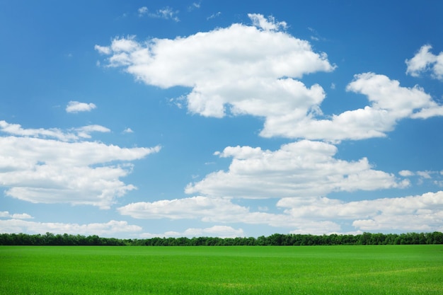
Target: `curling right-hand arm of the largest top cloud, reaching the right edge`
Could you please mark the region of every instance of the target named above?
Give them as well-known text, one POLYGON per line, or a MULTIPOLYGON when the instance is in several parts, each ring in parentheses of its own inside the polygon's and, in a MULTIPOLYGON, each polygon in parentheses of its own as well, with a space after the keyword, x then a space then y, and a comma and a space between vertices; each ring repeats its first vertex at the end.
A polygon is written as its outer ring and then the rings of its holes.
POLYGON ((405 118, 426 119, 443 115, 443 106, 435 103, 422 88, 402 87, 398 81, 384 75, 355 75, 346 89, 367 96, 369 104, 326 119, 316 116, 315 112, 305 113, 304 117, 282 112, 280 116, 267 118, 261 135, 328 141, 368 139, 385 137, 386 132, 392 131, 396 123, 405 118))

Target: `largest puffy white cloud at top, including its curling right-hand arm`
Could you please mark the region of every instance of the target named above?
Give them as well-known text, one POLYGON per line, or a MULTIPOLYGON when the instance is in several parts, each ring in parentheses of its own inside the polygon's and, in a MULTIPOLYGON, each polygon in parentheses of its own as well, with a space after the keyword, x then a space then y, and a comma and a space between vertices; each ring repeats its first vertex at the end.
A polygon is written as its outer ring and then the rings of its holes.
MULTIPOLYGON (((328 141, 384 137, 403 118, 443 115, 442 105, 422 88, 402 87, 398 81, 374 73, 358 74, 347 86, 347 91, 367 96, 365 108, 323 115, 323 88, 318 84, 308 87, 296 79, 316 71, 333 71, 335 66, 326 54, 314 52, 306 40, 280 31, 286 27, 284 22, 259 14, 248 16, 252 26, 234 24, 173 40, 120 38, 108 47, 96 45, 96 50, 110 55, 109 66, 123 67, 146 84, 190 87, 186 99, 192 113, 265 118, 263 137, 328 141)), ((436 73, 438 66, 437 62, 436 73)))

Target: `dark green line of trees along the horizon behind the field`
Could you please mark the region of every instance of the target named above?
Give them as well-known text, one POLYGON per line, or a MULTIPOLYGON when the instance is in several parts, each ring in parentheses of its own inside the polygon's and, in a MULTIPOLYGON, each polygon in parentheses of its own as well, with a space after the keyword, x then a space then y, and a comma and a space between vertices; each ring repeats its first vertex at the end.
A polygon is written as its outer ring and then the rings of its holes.
POLYGON ((359 235, 282 234, 258 238, 103 238, 96 235, 1 233, 0 245, 146 245, 146 246, 217 246, 217 245, 416 245, 443 244, 443 233, 362 233, 359 235))

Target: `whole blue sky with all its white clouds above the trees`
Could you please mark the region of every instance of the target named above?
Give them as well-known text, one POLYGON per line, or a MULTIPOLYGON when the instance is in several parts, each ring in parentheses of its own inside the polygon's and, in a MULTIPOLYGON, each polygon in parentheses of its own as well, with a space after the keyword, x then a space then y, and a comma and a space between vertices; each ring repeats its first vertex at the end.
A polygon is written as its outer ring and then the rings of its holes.
POLYGON ((440 1, 2 1, 0 232, 443 231, 440 1))

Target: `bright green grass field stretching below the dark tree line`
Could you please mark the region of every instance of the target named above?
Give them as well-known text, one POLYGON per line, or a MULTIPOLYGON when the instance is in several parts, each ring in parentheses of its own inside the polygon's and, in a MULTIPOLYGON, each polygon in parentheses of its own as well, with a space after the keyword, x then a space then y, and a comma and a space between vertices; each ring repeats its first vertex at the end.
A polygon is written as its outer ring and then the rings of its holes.
POLYGON ((1 246, 0 294, 443 294, 443 245, 1 246))

